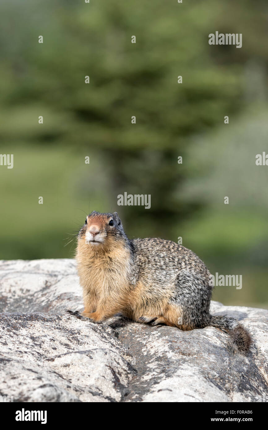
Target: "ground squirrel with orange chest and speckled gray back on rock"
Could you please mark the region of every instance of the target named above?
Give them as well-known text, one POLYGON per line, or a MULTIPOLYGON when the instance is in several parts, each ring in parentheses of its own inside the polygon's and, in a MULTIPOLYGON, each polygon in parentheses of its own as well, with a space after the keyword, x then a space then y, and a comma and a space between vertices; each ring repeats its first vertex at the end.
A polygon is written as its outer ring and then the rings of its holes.
POLYGON ((231 335, 236 350, 250 347, 250 335, 236 319, 210 315, 213 286, 203 261, 170 240, 129 240, 117 212, 86 217, 76 259, 85 310, 71 315, 102 322, 122 313, 182 330, 213 326, 231 335))

